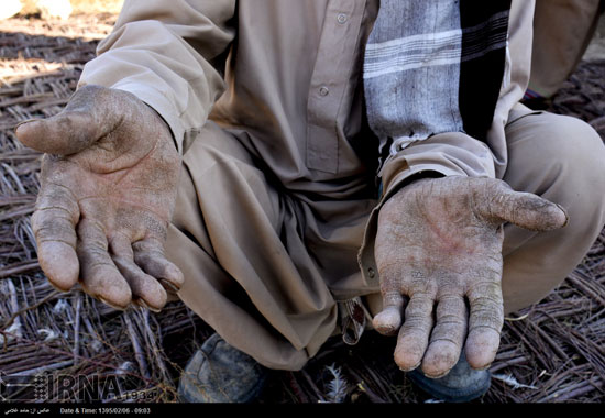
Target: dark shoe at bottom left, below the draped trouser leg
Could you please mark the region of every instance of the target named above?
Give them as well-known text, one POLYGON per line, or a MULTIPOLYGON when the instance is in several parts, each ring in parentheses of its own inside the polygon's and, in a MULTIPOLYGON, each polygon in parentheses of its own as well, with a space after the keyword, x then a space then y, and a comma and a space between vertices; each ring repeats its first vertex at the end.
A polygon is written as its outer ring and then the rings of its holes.
POLYGON ((261 394, 268 370, 212 334, 180 376, 184 403, 249 403, 261 394))

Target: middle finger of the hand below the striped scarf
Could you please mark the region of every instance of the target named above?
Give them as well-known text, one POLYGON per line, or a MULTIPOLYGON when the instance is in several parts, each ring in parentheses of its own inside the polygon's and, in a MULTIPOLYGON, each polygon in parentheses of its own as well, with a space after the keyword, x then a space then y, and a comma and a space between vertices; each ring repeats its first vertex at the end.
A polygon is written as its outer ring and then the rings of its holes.
POLYGON ((422 360, 422 372, 431 378, 448 374, 460 358, 466 334, 466 305, 462 296, 442 297, 436 309, 436 324, 422 360))

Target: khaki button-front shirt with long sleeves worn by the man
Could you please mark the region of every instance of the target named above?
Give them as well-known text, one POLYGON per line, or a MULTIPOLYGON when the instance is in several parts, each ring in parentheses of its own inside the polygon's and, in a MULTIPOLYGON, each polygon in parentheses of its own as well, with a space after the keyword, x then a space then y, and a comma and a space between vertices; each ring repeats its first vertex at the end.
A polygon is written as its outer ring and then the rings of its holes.
MULTIPOLYGON (((378 143, 365 122, 362 67, 378 6, 378 0, 127 0, 80 85, 136 95, 167 121, 182 153, 211 119, 240 135, 288 190, 351 198, 371 189, 376 177, 378 143)), ((532 0, 513 0, 507 67, 487 142, 442 133, 406 147, 380 173, 382 201, 419 172, 502 178, 504 127, 529 78, 532 15, 532 0)), ((373 240, 380 207, 378 201, 360 258, 370 286, 377 280, 373 240)))

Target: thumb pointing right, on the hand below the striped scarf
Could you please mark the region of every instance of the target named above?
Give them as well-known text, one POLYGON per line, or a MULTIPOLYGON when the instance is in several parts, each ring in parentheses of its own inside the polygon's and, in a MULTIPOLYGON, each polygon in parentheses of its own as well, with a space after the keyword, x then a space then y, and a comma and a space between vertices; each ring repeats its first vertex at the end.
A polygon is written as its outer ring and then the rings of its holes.
MULTIPOLYGON (((566 211, 559 205, 529 193, 515 191, 504 182, 498 182, 484 211, 501 221, 508 221, 532 231, 551 231, 569 221, 566 211)), ((480 210, 482 210, 480 209, 480 210)))

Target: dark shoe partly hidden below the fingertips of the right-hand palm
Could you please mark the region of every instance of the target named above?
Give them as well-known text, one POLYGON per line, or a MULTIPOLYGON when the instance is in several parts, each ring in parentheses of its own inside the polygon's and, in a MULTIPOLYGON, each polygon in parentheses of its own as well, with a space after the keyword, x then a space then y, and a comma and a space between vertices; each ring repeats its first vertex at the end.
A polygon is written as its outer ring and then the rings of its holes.
POLYGON ((430 378, 420 370, 409 372, 407 376, 427 394, 448 403, 471 402, 485 395, 490 389, 491 380, 488 371, 471 369, 464 353, 450 373, 443 377, 430 378))

